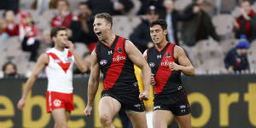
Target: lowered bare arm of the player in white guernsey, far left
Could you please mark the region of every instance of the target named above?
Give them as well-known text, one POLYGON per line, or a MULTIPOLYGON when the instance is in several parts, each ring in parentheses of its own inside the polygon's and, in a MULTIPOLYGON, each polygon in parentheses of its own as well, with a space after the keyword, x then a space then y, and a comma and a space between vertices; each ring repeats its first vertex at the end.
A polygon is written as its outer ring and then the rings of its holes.
POLYGON ((22 109, 26 103, 26 96, 28 92, 32 89, 33 84, 38 78, 38 74, 42 72, 46 64, 48 63, 48 55, 46 53, 39 56, 36 67, 33 69, 31 76, 26 81, 26 88, 23 92, 23 95, 18 103, 18 108, 22 109))

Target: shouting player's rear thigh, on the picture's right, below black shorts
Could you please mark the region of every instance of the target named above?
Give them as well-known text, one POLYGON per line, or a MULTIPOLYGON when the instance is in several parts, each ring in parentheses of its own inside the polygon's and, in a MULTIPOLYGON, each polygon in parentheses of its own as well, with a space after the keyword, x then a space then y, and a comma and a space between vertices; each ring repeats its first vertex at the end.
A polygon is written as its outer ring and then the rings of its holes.
POLYGON ((135 112, 129 110, 126 112, 126 114, 131 120, 133 128, 148 128, 145 112, 135 112))

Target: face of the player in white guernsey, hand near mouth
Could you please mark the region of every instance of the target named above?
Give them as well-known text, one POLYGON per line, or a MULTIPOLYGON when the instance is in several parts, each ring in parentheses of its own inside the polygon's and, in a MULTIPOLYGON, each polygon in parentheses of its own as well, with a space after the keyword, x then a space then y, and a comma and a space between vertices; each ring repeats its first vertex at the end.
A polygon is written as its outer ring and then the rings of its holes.
POLYGON ((66 47, 67 45, 67 31, 61 30, 57 33, 56 37, 53 38, 55 41, 55 44, 60 46, 61 48, 66 47))

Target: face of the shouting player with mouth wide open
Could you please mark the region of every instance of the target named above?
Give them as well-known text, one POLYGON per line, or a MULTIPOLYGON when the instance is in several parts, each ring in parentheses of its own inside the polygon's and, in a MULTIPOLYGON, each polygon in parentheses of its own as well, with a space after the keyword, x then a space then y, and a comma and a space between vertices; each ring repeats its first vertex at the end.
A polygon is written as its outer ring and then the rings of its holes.
POLYGON ((93 30, 100 41, 106 40, 106 32, 110 30, 110 24, 103 18, 96 18, 93 23, 93 30))

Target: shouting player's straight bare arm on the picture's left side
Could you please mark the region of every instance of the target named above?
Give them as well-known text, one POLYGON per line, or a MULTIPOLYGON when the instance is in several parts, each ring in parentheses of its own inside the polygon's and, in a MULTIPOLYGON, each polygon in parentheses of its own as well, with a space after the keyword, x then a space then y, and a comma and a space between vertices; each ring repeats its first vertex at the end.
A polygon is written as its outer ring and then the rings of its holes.
POLYGON ((99 86, 99 78, 100 78, 100 67, 97 63, 95 50, 91 54, 91 69, 90 69, 90 79, 88 82, 88 102, 87 105, 92 106, 94 98, 96 96, 96 92, 99 86))

